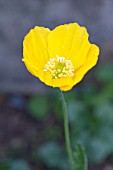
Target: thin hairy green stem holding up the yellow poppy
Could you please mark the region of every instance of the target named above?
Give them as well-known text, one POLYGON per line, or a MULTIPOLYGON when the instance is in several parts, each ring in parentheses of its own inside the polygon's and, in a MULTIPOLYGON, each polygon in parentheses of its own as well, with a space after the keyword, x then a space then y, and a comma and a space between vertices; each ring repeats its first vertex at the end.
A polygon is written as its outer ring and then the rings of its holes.
POLYGON ((60 95, 61 95, 63 112, 64 112, 64 130, 65 130, 66 149, 67 149, 68 156, 69 156, 70 168, 71 168, 71 170, 74 170, 74 160, 73 160, 73 153, 72 153, 72 149, 71 149, 70 135, 69 135, 69 122, 68 122, 67 106, 66 106, 65 98, 64 98, 62 91, 60 91, 60 95))

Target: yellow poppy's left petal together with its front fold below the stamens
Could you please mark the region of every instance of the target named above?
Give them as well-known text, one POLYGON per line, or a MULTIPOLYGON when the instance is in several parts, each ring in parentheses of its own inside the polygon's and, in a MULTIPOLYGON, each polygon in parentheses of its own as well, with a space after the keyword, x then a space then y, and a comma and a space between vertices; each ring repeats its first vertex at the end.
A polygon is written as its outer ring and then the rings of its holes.
POLYGON ((35 27, 25 37, 23 42, 23 61, 27 69, 46 85, 60 87, 68 84, 65 78, 52 79, 50 72, 44 72, 44 66, 49 60, 47 36, 50 30, 35 27))

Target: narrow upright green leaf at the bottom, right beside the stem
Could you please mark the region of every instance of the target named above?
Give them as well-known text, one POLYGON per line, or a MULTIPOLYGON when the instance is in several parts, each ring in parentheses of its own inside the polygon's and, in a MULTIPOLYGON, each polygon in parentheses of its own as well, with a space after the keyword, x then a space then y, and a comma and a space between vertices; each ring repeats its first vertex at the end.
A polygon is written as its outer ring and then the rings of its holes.
POLYGON ((75 170, 87 170, 87 157, 83 146, 77 144, 74 152, 75 170))

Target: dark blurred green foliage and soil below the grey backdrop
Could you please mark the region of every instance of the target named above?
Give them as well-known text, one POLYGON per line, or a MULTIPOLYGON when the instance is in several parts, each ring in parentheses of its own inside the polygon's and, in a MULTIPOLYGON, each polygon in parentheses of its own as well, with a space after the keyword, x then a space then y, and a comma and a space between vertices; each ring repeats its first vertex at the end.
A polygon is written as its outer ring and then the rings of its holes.
MULTIPOLYGON (((89 164, 95 165, 90 169, 107 170, 113 161, 112 64, 94 72, 64 95, 73 149, 83 143, 89 164), (103 162, 108 163, 98 168, 103 162)), ((58 89, 47 95, 2 95, 0 117, 0 170, 69 169, 58 89)))

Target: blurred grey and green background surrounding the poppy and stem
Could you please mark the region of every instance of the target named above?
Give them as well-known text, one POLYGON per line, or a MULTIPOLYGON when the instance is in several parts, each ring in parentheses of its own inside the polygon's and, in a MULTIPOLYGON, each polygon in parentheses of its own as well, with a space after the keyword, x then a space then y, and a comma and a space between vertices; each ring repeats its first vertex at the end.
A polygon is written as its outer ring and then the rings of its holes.
POLYGON ((34 26, 78 22, 101 50, 99 62, 65 93, 73 148, 81 141, 89 170, 113 169, 113 1, 0 0, 0 170, 68 170, 61 101, 22 63, 34 26))

